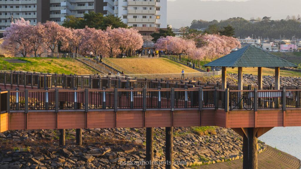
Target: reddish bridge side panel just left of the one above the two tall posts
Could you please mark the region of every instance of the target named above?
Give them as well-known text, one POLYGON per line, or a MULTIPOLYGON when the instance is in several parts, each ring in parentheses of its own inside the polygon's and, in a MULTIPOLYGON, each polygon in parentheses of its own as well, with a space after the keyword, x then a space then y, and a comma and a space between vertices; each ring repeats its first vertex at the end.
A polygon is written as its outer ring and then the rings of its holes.
POLYGON ((143 111, 118 111, 117 128, 143 128, 143 111))

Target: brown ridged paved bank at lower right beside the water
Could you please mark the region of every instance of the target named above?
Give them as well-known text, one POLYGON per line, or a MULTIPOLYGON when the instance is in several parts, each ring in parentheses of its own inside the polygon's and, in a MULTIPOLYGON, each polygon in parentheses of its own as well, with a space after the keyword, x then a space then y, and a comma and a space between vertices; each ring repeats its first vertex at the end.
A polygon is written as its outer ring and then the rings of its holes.
MULTIPOLYGON (((197 169, 241 169, 243 159, 223 163, 202 165, 197 169)), ((280 150, 267 146, 267 149, 258 155, 258 169, 300 169, 301 162, 296 157, 280 150)))

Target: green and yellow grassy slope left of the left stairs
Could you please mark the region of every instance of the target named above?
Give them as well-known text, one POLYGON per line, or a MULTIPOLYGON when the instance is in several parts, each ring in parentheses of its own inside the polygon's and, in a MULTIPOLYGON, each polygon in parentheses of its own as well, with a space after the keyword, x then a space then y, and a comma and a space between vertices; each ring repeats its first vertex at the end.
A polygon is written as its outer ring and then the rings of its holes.
MULTIPOLYGON (((16 58, 5 58, 16 59, 16 58)), ((0 70, 16 70, 30 72, 50 72, 87 75, 97 73, 96 70, 86 66, 85 64, 70 58, 17 58, 27 63, 9 63, 0 59, 0 70)))

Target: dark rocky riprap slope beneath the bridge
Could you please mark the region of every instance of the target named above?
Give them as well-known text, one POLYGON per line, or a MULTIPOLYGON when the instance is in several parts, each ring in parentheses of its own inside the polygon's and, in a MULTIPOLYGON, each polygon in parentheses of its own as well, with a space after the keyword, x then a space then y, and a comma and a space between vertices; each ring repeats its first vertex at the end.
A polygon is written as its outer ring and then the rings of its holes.
MULTIPOLYGON (((142 169, 126 162, 145 158, 145 129, 83 129, 83 145, 75 146, 75 130, 66 131, 66 146, 58 147, 56 130, 7 131, 0 133, 1 169, 142 169)), ((174 128, 175 168, 211 164, 242 158, 242 138, 231 129, 199 136, 192 128, 174 128), (185 163, 183 163, 183 161, 185 163)), ((259 151, 265 145, 259 143, 259 151)), ((155 128, 154 161, 163 162, 165 129, 155 128)), ((163 169, 164 165, 155 165, 163 169)))

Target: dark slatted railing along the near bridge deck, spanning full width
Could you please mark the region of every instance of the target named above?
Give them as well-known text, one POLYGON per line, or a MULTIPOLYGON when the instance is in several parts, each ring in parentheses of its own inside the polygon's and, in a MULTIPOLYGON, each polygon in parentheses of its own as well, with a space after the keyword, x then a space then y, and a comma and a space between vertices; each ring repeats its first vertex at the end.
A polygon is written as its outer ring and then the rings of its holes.
POLYGON ((22 89, 1 93, 1 111, 66 109, 300 108, 301 90, 229 91, 204 88, 22 89))

